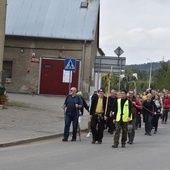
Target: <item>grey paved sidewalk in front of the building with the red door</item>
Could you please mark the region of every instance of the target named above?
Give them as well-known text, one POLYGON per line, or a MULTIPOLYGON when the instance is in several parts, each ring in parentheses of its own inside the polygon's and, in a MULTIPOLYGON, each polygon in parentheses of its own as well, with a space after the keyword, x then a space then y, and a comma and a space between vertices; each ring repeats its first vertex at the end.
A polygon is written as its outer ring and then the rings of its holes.
MULTIPOLYGON (((7 147, 63 135, 65 96, 8 93, 8 106, 0 110, 0 147, 7 147)), ((88 112, 81 129, 87 128, 88 112)), ((72 129, 72 128, 70 128, 72 129)), ((70 136, 71 138, 71 136, 70 136)))

